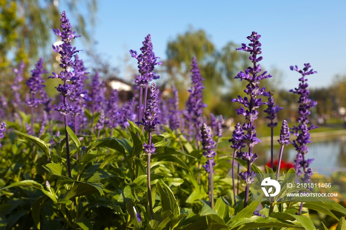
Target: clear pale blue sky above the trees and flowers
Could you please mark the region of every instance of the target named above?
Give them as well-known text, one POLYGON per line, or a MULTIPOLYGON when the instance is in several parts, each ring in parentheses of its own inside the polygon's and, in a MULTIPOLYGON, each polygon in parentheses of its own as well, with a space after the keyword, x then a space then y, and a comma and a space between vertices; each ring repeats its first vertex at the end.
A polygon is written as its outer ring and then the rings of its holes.
MULTIPOLYGON (((93 38, 96 51, 121 67, 128 50, 139 51, 147 34, 155 54, 165 59, 169 39, 190 25, 205 30, 216 48, 228 41, 248 43, 246 37, 256 31, 262 36, 261 65, 283 72, 282 88, 298 86, 299 75, 289 66, 303 68, 306 62, 318 72, 308 81, 315 88, 332 84, 335 75, 346 71, 345 10, 341 0, 99 0, 93 38)), ((83 49, 82 43, 75 45, 83 49)), ((136 66, 135 59, 131 63, 136 66)))

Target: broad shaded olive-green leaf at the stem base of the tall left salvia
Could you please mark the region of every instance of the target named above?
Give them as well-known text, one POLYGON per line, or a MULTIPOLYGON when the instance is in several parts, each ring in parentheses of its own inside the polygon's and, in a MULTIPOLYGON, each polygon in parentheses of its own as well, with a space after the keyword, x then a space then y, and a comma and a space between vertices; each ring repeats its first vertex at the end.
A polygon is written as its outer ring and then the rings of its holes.
POLYGON ((89 195, 95 192, 99 192, 100 195, 103 195, 103 189, 101 188, 99 183, 89 184, 89 183, 77 183, 74 184, 71 189, 66 193, 64 199, 71 199, 74 197, 89 195), (100 192, 101 190, 101 192, 100 192))

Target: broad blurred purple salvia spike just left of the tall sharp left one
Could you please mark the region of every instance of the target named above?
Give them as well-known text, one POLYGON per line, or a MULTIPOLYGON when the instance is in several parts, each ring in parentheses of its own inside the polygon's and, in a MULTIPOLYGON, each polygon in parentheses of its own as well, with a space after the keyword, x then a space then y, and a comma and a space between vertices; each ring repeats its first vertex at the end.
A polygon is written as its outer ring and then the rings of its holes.
POLYGON ((35 65, 35 69, 31 71, 31 77, 26 81, 29 86, 29 93, 31 97, 26 101, 29 107, 37 107, 39 104, 43 104, 47 100, 46 92, 44 90, 44 80, 41 77, 42 74, 48 73, 43 69, 43 58, 35 65))

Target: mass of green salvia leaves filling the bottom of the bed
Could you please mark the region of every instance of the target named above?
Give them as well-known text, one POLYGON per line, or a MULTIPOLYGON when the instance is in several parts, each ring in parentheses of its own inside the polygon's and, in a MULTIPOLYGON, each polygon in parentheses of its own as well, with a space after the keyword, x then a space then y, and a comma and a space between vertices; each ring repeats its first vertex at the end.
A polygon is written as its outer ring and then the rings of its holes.
MULTIPOLYGON (((295 214, 299 200, 274 200, 274 212, 270 214, 269 202, 263 201, 262 194, 255 190, 251 192, 257 196, 252 196, 256 198, 247 207, 244 208, 242 191, 235 202, 232 182, 226 176, 231 167, 228 160, 232 158, 227 156, 215 159, 216 200, 212 210, 208 174, 200 167, 206 161, 202 150, 171 130, 152 137, 156 152, 151 158, 151 220, 147 156, 142 150, 148 137, 133 122, 129 121, 127 130, 116 129, 114 137, 99 140, 92 135, 77 136, 67 127, 72 178, 67 176, 64 138, 44 134, 40 139, 25 134, 16 123, 9 126, 20 131, 13 131, 10 142, 1 148, 0 229, 13 229, 17 224, 64 230, 315 229, 307 216, 295 214), (51 138, 55 139, 53 145, 49 143, 51 138), (254 216, 258 209, 267 217, 254 216), (141 216, 140 222, 136 213, 141 216)), ((236 160, 246 165, 245 161, 236 160)), ((274 174, 270 168, 263 172, 256 165, 252 170, 259 180, 274 174)), ((292 175, 294 169, 280 177, 279 183, 292 183, 292 175)), ((279 196, 293 191, 294 188, 282 188, 279 196)), ((346 208, 340 204, 328 198, 314 198, 306 199, 303 207, 329 215, 339 221, 337 229, 345 228, 345 220, 340 217, 346 215, 346 208)))

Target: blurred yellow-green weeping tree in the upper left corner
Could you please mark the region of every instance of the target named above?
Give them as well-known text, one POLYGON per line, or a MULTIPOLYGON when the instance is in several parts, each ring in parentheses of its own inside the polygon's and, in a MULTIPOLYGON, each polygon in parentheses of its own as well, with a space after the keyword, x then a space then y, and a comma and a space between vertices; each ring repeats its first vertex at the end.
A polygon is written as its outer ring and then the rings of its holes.
MULTIPOLYGON (((0 87, 5 89, 1 93, 10 97, 8 86, 13 79, 12 68, 20 61, 24 61, 25 77, 29 73, 27 68, 36 63, 39 57, 44 57, 45 64, 55 59, 51 48, 52 40, 56 40, 52 28, 60 28, 60 14, 58 0, 0 0, 0 87)), ((82 36, 85 44, 91 41, 86 27, 86 16, 81 13, 81 2, 65 0, 71 16, 78 22, 73 25, 74 30, 82 36)), ((89 24, 95 22, 97 10, 96 0, 85 0, 89 24)), ((47 70, 51 66, 45 67, 47 70)))

